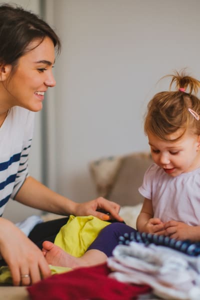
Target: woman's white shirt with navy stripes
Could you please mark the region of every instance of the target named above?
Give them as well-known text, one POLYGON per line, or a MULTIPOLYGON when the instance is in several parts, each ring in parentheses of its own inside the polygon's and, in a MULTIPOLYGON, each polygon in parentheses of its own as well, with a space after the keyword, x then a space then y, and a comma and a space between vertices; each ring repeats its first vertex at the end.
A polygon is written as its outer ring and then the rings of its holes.
POLYGON ((0 127, 0 216, 28 176, 34 112, 14 106, 0 127))

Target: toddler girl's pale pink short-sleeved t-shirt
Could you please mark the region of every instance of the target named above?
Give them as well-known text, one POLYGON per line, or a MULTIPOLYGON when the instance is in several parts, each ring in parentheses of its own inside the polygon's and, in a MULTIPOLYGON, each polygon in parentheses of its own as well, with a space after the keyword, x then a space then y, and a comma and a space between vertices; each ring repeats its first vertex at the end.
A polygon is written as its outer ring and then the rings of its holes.
POLYGON ((153 163, 138 190, 152 201, 154 217, 161 221, 200 225, 200 168, 171 177, 153 163))

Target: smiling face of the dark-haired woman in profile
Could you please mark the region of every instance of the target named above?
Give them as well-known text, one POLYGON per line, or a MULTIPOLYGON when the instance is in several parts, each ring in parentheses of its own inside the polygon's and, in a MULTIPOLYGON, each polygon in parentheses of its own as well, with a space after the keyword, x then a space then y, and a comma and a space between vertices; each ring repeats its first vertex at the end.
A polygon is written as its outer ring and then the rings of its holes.
MULTIPOLYGON (((38 40, 32 41, 29 46, 36 45, 38 40)), ((32 111, 42 108, 44 92, 55 85, 52 75, 54 60, 54 45, 49 37, 19 58, 15 71, 4 81, 9 107, 17 105, 32 111)))

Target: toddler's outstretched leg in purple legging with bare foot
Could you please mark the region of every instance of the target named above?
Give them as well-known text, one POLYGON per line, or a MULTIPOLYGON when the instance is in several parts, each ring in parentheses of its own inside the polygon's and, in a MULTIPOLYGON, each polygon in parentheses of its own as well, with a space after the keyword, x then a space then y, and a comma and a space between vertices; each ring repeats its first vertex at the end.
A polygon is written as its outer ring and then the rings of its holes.
POLYGON ((49 241, 43 242, 43 253, 49 264, 71 268, 89 266, 106 261, 118 244, 120 235, 134 231, 132 227, 115 222, 104 227, 81 257, 74 257, 49 241))

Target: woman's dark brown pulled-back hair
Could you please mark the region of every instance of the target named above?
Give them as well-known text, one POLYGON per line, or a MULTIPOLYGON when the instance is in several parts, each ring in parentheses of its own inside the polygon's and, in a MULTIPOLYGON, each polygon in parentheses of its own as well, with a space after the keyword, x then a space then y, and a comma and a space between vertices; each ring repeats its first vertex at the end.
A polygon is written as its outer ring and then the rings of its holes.
POLYGON ((17 5, 0 5, 0 65, 15 66, 18 58, 28 50, 33 40, 38 45, 49 37, 57 52, 60 52, 59 37, 53 29, 36 14, 17 5))

